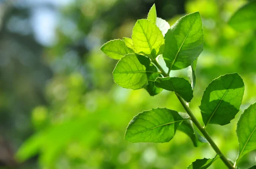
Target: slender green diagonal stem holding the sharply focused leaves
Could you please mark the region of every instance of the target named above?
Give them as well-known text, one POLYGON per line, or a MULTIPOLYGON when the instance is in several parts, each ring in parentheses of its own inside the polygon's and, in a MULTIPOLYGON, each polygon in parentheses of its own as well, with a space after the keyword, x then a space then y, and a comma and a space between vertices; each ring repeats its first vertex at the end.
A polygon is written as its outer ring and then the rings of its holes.
MULTIPOLYGON (((157 68, 162 72, 163 76, 168 77, 169 74, 167 74, 163 68, 158 64, 158 62, 155 60, 153 61, 153 63, 157 66, 157 68)), ((190 110, 189 106, 186 104, 186 101, 184 101, 177 93, 175 93, 177 98, 179 99, 180 103, 182 104, 182 106, 184 107, 184 109, 186 110, 186 112, 189 114, 191 120, 193 121, 193 123, 195 124, 195 126, 198 128, 198 130, 202 133, 202 135, 204 135, 204 137, 207 139, 208 143, 210 144, 210 146, 212 146, 212 148, 215 150, 216 153, 218 153, 221 157, 221 160, 225 163, 225 165, 229 168, 229 169, 235 169, 233 167, 233 165, 230 163, 230 161, 227 160, 227 158, 224 156, 224 154, 221 152, 221 150, 218 148, 218 146, 215 144, 215 142, 212 140, 212 138, 210 137, 210 135, 208 134, 208 132, 204 129, 204 127, 199 123, 199 121, 197 120, 197 118, 195 117, 195 115, 192 113, 192 111, 190 110)))

